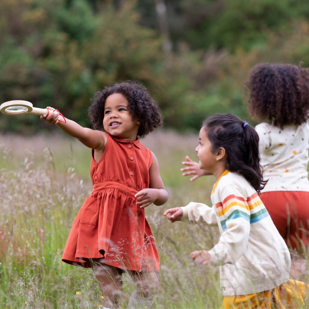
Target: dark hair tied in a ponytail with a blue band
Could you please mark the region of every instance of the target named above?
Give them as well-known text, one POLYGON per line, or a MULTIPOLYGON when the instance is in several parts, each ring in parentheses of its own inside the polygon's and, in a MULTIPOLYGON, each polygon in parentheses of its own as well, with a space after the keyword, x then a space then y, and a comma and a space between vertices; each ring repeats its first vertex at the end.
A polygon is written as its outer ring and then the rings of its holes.
POLYGON ((232 114, 215 114, 202 128, 211 142, 211 151, 223 147, 227 153, 227 169, 242 175, 260 194, 267 181, 260 165, 259 136, 246 121, 232 114))

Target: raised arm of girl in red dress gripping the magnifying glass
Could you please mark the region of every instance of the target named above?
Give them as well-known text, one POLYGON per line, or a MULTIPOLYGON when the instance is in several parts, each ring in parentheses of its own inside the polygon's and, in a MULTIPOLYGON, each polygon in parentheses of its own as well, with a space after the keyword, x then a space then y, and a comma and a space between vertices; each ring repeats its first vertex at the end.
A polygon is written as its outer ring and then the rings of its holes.
POLYGON ((92 130, 90 128, 84 128, 78 123, 68 118, 65 118, 66 122, 57 121, 59 112, 54 108, 48 107, 49 114, 41 116, 50 124, 57 125, 62 131, 66 132, 70 136, 77 138, 85 146, 94 149, 104 149, 106 144, 106 135, 102 131, 92 130))

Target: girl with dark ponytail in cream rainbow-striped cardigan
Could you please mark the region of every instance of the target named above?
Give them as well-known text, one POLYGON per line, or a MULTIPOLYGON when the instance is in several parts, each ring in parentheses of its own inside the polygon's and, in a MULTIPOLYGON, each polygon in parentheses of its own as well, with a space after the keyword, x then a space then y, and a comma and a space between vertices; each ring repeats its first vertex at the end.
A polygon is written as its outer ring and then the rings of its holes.
POLYGON ((168 209, 171 222, 218 226, 220 238, 210 250, 191 253, 203 265, 219 265, 222 308, 299 308, 308 285, 290 280, 290 252, 258 193, 265 182, 259 137, 247 122, 231 114, 206 119, 196 147, 199 167, 216 183, 212 207, 191 202, 168 209))

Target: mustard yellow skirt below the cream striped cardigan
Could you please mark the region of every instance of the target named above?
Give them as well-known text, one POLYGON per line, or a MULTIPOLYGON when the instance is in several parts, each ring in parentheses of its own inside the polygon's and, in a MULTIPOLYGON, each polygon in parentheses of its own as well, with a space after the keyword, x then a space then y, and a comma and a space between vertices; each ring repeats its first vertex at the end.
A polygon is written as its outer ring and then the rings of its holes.
POLYGON ((305 282, 289 279, 273 290, 249 295, 225 296, 221 308, 300 308, 309 290, 305 282))

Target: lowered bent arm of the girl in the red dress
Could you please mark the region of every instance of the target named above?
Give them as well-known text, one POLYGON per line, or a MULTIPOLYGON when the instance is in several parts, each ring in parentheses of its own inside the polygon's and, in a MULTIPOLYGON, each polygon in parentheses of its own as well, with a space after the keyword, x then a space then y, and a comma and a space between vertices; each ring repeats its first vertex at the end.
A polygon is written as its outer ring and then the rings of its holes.
MULTIPOLYGON (((152 153, 152 152, 151 152, 152 153)), ((165 190, 160 176, 159 163, 156 156, 152 153, 152 165, 149 169, 149 188, 142 189, 135 194, 138 205, 141 208, 147 207, 151 203, 163 205, 166 203, 168 194, 165 190)))

